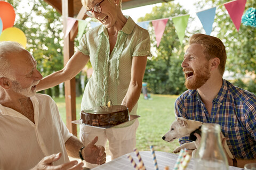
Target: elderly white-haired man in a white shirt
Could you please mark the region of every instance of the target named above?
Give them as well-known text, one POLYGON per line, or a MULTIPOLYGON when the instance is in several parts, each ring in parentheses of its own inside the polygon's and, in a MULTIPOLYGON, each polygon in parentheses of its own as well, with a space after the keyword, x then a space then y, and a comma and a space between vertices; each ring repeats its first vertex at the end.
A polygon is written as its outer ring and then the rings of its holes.
POLYGON ((69 133, 52 98, 36 94, 42 79, 35 58, 20 44, 0 42, 0 169, 82 169, 106 161, 105 149, 86 147, 69 133), (68 154, 67 154, 68 153, 68 154))

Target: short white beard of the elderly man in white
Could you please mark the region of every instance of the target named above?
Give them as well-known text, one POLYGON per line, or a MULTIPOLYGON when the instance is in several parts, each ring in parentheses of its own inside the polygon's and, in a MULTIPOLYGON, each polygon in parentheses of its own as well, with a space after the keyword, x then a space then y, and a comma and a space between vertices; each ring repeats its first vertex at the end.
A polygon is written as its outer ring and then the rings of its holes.
POLYGON ((39 80, 33 83, 29 88, 22 88, 21 84, 18 81, 12 81, 12 90, 26 97, 32 97, 36 94, 36 89, 32 90, 31 88, 39 83, 39 80))

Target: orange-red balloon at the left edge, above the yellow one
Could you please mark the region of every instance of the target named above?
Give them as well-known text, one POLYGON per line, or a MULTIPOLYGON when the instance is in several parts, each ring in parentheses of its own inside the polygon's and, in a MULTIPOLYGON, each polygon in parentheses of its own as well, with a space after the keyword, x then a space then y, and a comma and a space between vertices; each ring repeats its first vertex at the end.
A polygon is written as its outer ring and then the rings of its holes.
POLYGON ((12 27, 15 21, 15 11, 11 4, 0 1, 0 18, 3 23, 3 30, 12 27))

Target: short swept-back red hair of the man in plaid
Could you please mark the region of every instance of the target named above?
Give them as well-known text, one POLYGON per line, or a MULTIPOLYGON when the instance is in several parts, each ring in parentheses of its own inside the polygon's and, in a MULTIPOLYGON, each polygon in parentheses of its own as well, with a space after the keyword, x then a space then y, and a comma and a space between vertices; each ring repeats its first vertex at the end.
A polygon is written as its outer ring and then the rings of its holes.
POLYGON ((227 53, 222 41, 213 36, 196 33, 189 39, 189 45, 200 44, 203 47, 203 53, 207 60, 218 57, 220 59, 219 71, 223 75, 227 60, 227 53))

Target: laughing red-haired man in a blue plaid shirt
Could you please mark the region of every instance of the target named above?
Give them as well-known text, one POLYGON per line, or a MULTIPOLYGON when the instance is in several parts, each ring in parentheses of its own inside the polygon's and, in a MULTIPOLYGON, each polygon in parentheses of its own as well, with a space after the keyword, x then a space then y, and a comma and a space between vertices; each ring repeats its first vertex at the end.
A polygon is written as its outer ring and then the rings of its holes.
POLYGON ((220 39, 191 36, 181 64, 188 90, 175 101, 175 115, 220 124, 235 158, 227 156, 229 165, 243 167, 256 162, 256 96, 222 79, 226 58, 220 39))

